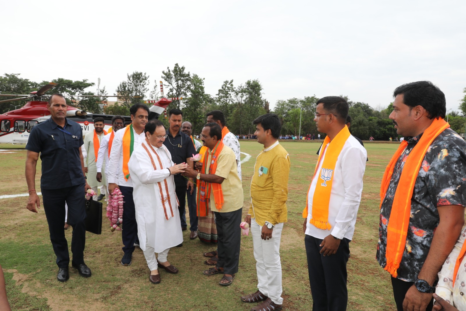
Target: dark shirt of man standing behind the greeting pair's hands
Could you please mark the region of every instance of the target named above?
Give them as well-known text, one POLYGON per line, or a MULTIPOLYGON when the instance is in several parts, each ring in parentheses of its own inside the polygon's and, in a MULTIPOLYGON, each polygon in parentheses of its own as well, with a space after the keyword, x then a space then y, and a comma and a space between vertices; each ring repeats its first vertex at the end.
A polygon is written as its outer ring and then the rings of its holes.
MULTIPOLYGON (((196 154, 196 148, 194 148, 192 140, 188 135, 181 131, 178 131, 178 134, 175 137, 173 137, 170 134, 170 129, 166 131, 166 134, 168 135, 168 137, 165 138, 164 145, 170 151, 171 161, 173 161, 173 163, 179 164, 186 162, 187 158, 190 158, 193 154, 196 154)), ((188 182, 188 180, 185 177, 181 176, 181 174, 175 175, 174 179, 175 185, 186 185, 186 183, 188 182)))

